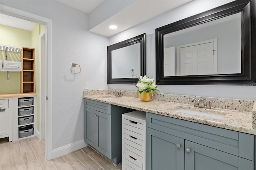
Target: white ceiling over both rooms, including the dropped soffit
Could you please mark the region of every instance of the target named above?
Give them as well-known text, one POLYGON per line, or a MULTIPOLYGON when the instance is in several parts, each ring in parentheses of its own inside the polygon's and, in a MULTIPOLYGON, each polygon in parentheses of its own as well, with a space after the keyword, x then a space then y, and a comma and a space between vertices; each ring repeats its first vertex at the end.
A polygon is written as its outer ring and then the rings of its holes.
MULTIPOLYGON (((192 0, 56 0, 89 14, 90 32, 110 37, 192 0), (128 2, 128 3, 127 3, 128 2), (159 3, 161 2, 161 3, 159 3), (110 5, 114 3, 114 5, 110 5), (115 4, 120 4, 115 5, 115 4), (122 5, 123 3, 123 5, 122 5), (125 4, 125 5, 124 5, 125 4), (117 9, 119 8, 119 9, 117 9), (102 10, 104 9, 104 10, 102 10), (95 22, 96 21, 96 22, 95 22), (118 26, 110 30, 109 25, 118 26)), ((35 23, 0 14, 0 24, 32 30, 35 23)))

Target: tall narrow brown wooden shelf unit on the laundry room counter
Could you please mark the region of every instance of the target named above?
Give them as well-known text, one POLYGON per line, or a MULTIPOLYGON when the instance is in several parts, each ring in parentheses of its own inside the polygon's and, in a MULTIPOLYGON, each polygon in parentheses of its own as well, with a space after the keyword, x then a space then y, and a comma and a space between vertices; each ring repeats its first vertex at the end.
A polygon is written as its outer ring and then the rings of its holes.
POLYGON ((20 73, 20 93, 35 93, 35 49, 22 47, 20 50, 22 72, 20 73))

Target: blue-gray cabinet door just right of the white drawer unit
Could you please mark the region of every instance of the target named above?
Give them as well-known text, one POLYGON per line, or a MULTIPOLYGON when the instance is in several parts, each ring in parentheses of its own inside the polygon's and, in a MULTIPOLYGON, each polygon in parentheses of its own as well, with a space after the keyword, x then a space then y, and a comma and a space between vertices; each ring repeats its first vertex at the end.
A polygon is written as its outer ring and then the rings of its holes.
POLYGON ((184 170, 184 139, 146 128, 146 169, 184 170))

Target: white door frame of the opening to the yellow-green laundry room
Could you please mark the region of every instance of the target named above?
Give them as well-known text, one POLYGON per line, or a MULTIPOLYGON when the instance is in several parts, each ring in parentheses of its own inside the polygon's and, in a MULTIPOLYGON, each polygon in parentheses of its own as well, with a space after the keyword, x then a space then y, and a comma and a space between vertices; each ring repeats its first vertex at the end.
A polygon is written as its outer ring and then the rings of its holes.
MULTIPOLYGON (((28 20, 38 24, 45 25, 46 33, 46 46, 45 46, 45 55, 46 55, 46 95, 48 100, 46 101, 47 110, 46 110, 46 138, 45 138, 45 158, 46 160, 51 160, 52 158, 52 20, 18 10, 9 6, 0 4, 0 13, 20 18, 23 20, 28 20)), ((41 82, 42 83, 42 82, 41 82)))

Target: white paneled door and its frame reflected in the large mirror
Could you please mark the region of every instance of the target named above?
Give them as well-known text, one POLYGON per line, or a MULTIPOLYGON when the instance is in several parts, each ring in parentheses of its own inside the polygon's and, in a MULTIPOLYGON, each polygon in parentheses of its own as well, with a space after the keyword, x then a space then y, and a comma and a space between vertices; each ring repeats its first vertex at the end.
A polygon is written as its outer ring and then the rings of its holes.
POLYGON ((177 75, 217 74, 217 38, 177 46, 177 75))

